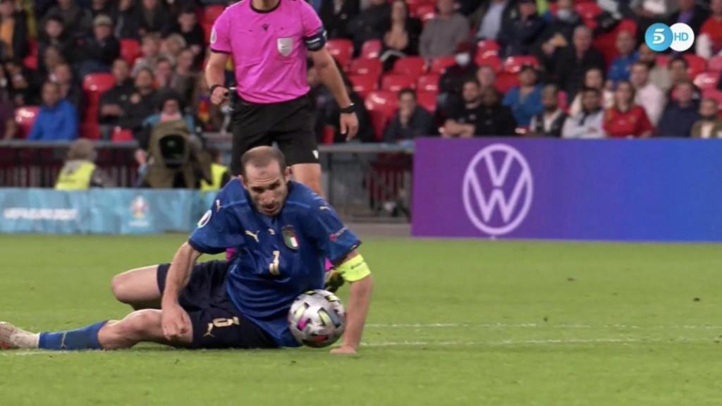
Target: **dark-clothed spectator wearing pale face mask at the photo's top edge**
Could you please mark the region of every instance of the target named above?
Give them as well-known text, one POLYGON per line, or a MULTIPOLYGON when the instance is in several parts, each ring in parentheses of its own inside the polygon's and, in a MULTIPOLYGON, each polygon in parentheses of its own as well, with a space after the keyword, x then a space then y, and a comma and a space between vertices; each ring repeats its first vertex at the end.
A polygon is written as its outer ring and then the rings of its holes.
POLYGON ((572 0, 557 1, 557 14, 547 25, 541 35, 541 48, 539 60, 548 71, 554 69, 554 53, 557 49, 564 49, 572 43, 576 27, 582 25, 582 19, 575 12, 572 0))

